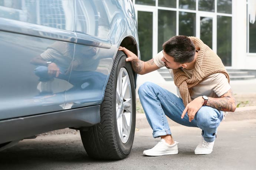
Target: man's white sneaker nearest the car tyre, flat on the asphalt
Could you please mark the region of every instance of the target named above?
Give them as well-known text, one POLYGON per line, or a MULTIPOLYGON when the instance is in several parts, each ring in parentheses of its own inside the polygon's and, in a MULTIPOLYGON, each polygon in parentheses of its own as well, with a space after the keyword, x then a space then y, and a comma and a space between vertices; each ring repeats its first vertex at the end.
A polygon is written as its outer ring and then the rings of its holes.
POLYGON ((164 139, 161 139, 152 149, 144 150, 143 154, 147 156, 161 156, 166 154, 178 153, 178 142, 174 141, 173 145, 169 145, 164 139))

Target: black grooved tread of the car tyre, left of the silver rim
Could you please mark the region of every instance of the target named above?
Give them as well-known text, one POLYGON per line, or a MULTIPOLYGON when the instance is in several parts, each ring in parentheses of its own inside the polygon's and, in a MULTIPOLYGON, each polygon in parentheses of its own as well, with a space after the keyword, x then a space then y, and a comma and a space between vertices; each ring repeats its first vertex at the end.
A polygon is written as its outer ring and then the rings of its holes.
POLYGON ((109 75, 104 101, 101 104, 101 122, 86 132, 80 132, 86 152, 94 159, 118 160, 127 156, 120 152, 116 140, 119 136, 115 134, 112 104, 116 66, 122 55, 124 53, 118 51, 109 75))

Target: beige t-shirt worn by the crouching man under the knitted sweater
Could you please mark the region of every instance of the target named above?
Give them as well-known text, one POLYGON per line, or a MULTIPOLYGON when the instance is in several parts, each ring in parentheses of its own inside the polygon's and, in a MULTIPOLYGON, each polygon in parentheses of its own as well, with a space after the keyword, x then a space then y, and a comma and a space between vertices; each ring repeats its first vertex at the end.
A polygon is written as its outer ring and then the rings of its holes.
MULTIPOLYGON (((163 57, 163 51, 160 51, 155 57, 154 62, 157 65, 157 67, 162 68, 164 67, 164 62, 161 61, 161 58, 163 57)), ((173 69, 168 69, 171 76, 173 77, 173 69)), ((193 75, 193 70, 186 70, 183 69, 183 71, 187 74, 189 78, 193 75)), ((191 96, 191 100, 197 98, 198 96, 207 95, 212 98, 217 98, 218 96, 223 95, 230 89, 229 82, 226 78, 226 76, 222 73, 216 73, 207 76, 204 78, 198 85, 192 88, 193 95, 191 96)), ((180 96, 180 91, 177 88, 177 95, 180 96)))

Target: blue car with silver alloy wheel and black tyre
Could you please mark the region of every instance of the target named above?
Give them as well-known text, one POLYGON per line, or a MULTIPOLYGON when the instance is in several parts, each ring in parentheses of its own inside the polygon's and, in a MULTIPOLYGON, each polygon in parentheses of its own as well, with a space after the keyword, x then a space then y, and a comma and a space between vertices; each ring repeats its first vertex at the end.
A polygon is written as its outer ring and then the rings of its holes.
POLYGON ((140 57, 131 0, 0 0, 0 150, 80 130, 95 159, 124 159, 135 133, 140 57))

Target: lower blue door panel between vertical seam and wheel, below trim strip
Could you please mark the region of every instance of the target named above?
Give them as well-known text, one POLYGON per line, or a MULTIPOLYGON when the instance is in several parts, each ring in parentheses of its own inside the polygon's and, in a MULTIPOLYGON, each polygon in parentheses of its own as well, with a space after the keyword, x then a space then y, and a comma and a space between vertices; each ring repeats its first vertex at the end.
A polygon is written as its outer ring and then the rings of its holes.
MULTIPOLYGON (((66 102, 72 108, 99 105, 108 80, 112 53, 109 49, 76 44, 66 102)), ((68 108, 65 108, 68 109, 68 108)))

